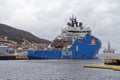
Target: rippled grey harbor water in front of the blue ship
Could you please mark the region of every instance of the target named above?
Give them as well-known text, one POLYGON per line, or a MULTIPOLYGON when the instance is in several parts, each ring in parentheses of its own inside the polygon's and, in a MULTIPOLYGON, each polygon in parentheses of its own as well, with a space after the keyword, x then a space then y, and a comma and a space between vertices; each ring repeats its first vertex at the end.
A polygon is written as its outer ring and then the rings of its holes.
POLYGON ((0 80, 120 80, 119 71, 83 68, 86 64, 104 65, 104 57, 120 54, 98 56, 89 60, 1 60, 0 80))

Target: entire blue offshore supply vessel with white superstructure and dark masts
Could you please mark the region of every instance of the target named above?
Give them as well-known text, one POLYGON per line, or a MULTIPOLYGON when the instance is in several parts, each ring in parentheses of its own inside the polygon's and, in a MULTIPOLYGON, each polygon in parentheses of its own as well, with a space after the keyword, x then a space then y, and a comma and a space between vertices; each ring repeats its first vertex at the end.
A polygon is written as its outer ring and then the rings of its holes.
POLYGON ((29 50, 29 59, 91 59, 96 58, 101 41, 91 29, 72 16, 67 27, 48 46, 48 50, 29 50))

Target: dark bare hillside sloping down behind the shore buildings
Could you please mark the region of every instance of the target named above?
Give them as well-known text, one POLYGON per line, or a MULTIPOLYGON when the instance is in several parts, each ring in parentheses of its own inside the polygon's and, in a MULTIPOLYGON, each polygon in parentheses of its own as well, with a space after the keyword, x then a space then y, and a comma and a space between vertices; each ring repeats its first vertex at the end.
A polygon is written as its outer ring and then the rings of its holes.
POLYGON ((0 24, 0 37, 4 36, 7 36, 9 40, 19 43, 23 42, 23 39, 26 39, 32 43, 50 43, 49 40, 38 38, 30 32, 19 30, 5 24, 0 24))

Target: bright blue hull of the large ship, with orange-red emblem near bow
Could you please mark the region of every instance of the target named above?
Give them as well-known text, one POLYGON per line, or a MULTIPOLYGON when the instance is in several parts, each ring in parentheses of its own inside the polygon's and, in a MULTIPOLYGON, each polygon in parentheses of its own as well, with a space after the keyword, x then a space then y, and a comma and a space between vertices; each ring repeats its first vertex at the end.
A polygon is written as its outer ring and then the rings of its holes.
POLYGON ((101 41, 91 35, 82 40, 76 39, 67 50, 35 50, 28 51, 29 59, 92 59, 96 58, 101 47, 101 41))

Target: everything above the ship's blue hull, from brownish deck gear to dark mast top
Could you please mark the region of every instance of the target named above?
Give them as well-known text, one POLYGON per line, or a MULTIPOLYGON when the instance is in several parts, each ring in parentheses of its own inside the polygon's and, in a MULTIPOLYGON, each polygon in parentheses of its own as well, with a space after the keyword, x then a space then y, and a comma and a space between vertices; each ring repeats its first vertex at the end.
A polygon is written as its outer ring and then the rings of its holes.
POLYGON ((67 27, 55 38, 51 47, 63 48, 64 46, 70 46, 76 38, 82 39, 86 34, 91 35, 90 27, 83 26, 82 22, 77 22, 76 17, 72 16, 70 22, 67 23, 67 27))

